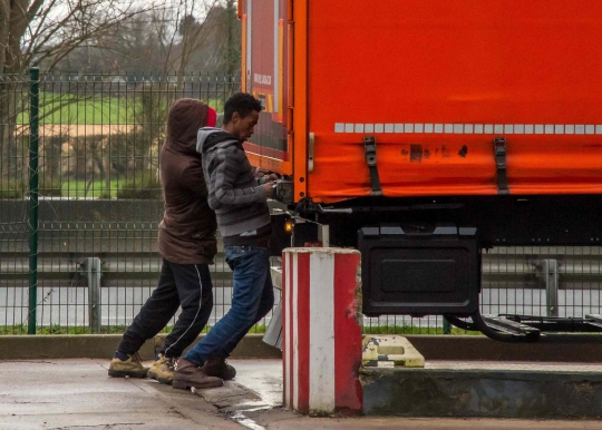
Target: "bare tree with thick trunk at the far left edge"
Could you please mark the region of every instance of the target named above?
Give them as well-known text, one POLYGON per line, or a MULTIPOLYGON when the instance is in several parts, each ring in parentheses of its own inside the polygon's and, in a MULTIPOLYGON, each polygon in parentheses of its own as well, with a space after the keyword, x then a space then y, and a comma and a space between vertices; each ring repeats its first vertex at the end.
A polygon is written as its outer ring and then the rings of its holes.
POLYGON ((14 121, 21 110, 14 78, 32 63, 47 71, 74 49, 95 43, 103 35, 164 0, 0 0, 0 174, 12 177, 14 121), (11 94, 12 92, 12 94, 11 94))

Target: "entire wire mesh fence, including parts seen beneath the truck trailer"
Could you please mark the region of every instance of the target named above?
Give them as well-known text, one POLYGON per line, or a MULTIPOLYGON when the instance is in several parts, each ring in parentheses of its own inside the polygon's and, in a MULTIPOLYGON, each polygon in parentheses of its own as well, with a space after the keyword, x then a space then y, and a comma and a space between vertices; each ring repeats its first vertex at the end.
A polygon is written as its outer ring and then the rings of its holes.
MULTIPOLYGON (((193 97, 220 111, 239 88, 239 78, 229 76, 41 74, 39 224, 31 225, 31 79, 0 75, 0 334, 125 330, 158 280, 156 172, 169 102, 193 97), (31 310, 36 320, 28 328, 31 310)), ((221 252, 212 277, 210 325, 232 295, 221 252)), ((599 314, 601 292, 599 246, 499 247, 483 255, 484 314, 599 314)), ((444 330, 434 316, 365 319, 366 332, 444 330)))

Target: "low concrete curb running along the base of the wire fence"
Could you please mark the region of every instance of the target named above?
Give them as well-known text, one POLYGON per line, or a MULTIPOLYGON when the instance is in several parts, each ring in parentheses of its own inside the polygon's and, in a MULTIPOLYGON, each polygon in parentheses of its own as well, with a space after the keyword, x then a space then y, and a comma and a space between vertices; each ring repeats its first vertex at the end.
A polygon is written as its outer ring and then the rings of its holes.
MULTIPOLYGON (((165 334, 148 340, 140 356, 151 360, 165 334)), ((201 335, 198 339, 202 339, 201 335)), ((485 336, 408 335, 428 360, 459 361, 554 361, 600 362, 602 335, 546 336, 536 343, 502 343, 485 336)), ((6 335, 0 336, 0 360, 110 358, 120 334, 6 335)), ((234 350, 236 359, 280 359, 279 349, 262 341, 263 334, 247 334, 234 350)))

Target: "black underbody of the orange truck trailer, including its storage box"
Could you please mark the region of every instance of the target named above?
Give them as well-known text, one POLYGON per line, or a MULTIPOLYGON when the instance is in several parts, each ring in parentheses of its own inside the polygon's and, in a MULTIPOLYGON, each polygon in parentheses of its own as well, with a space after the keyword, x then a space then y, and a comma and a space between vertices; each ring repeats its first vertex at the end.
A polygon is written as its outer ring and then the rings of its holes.
POLYGON ((329 206, 305 199, 289 213, 298 219, 293 246, 327 241, 361 251, 367 316, 444 315, 460 329, 507 342, 533 342, 546 332, 602 331, 602 317, 595 314, 479 312, 483 252, 503 246, 598 246, 599 195, 362 197, 329 206))

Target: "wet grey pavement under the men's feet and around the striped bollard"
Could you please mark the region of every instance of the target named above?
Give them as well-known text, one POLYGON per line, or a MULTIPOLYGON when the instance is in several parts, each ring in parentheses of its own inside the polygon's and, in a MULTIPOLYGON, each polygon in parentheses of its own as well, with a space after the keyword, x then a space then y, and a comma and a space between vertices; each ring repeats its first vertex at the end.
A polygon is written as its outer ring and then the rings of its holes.
POLYGON ((235 382, 192 393, 151 380, 108 378, 108 360, 0 361, 0 429, 602 429, 602 422, 584 420, 300 417, 281 408, 281 360, 231 363, 235 382))

